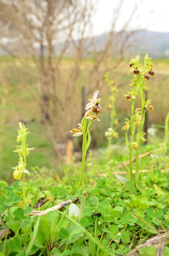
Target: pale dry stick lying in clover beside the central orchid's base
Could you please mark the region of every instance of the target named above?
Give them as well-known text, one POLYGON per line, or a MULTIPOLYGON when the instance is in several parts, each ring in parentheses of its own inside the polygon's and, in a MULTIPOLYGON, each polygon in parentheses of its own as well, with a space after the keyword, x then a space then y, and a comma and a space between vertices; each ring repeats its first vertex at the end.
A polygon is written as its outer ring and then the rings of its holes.
MULTIPOLYGON (((66 201, 64 201, 64 202, 62 202, 62 203, 56 204, 55 206, 53 206, 53 207, 51 207, 51 208, 48 208, 48 209, 46 209, 46 210, 44 210, 44 211, 34 211, 35 214, 33 214, 33 215, 31 216, 31 218, 32 218, 33 216, 35 216, 35 215, 44 216, 44 215, 46 215, 46 214, 47 214, 48 212, 50 212, 50 211, 61 210, 61 209, 64 208, 67 204, 70 204, 71 201, 72 201, 72 200, 68 199, 68 200, 66 200, 66 201)), ((75 202, 77 202, 77 201, 78 201, 78 198, 76 197, 76 198, 73 200, 73 202, 75 203, 75 202)), ((5 238, 7 231, 8 231, 8 228, 4 228, 4 229, 0 230, 0 238, 1 238, 2 240, 5 238)), ((9 229, 7 238, 9 238, 10 236, 12 236, 13 234, 14 234, 14 232, 13 232, 11 229, 9 229)))

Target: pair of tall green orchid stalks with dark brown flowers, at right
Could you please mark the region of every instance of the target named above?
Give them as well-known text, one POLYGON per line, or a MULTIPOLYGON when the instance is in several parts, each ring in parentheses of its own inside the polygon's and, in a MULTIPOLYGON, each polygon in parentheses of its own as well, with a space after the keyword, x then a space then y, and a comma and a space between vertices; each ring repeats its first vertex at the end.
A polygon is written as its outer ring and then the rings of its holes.
POLYGON ((145 112, 147 109, 149 111, 153 110, 153 107, 151 106, 151 100, 145 101, 145 94, 144 94, 144 91, 146 91, 148 88, 146 87, 145 80, 150 79, 149 76, 146 75, 146 73, 148 72, 150 76, 154 75, 154 72, 152 71, 152 61, 151 61, 151 58, 149 58, 148 54, 146 54, 144 58, 144 67, 141 68, 141 65, 139 64, 139 60, 140 60, 139 55, 137 55, 135 59, 131 59, 129 61, 130 67, 131 67, 130 71, 133 72, 134 78, 132 79, 132 83, 129 84, 129 86, 131 87, 131 91, 127 92, 127 94, 124 94, 124 96, 126 97, 126 100, 132 100, 131 115, 129 115, 130 119, 126 118, 125 125, 121 128, 122 131, 126 130, 125 139, 128 147, 129 160, 130 160, 128 174, 129 174, 129 179, 131 181, 133 178, 132 150, 136 150, 136 180, 138 180, 138 177, 139 177, 138 148, 141 141, 146 141, 146 139, 143 137, 146 134, 143 132, 145 112), (140 95, 141 95, 141 108, 137 108, 134 111, 136 95, 138 94, 138 92, 140 92, 140 95), (135 138, 136 127, 138 127, 138 130, 135 138), (128 139, 129 128, 131 131, 130 142, 128 139))

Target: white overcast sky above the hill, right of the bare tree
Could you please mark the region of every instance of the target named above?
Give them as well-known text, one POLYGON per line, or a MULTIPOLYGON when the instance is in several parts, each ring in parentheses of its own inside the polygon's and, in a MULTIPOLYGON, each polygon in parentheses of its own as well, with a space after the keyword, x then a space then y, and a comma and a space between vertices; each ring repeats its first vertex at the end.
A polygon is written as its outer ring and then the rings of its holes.
MULTIPOLYGON (((97 12, 93 18, 95 36, 110 30, 114 17, 113 10, 119 3, 120 0, 98 0, 97 12)), ((134 9, 135 19, 131 22, 129 29, 169 32, 169 0, 143 0, 137 10, 135 9, 136 3, 140 3, 140 0, 123 0, 121 15, 115 28, 117 31, 122 28, 134 9)))

